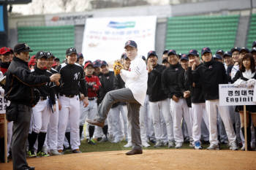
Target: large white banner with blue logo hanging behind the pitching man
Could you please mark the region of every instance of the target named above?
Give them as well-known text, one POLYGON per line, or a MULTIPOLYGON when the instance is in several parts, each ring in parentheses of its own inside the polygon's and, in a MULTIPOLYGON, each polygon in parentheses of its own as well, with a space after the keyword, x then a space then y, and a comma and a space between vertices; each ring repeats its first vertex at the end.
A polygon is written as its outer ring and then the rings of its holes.
POLYGON ((88 18, 83 34, 82 53, 86 60, 120 59, 127 40, 138 45, 138 55, 147 55, 155 49, 156 16, 88 18))

